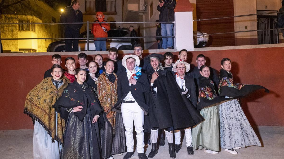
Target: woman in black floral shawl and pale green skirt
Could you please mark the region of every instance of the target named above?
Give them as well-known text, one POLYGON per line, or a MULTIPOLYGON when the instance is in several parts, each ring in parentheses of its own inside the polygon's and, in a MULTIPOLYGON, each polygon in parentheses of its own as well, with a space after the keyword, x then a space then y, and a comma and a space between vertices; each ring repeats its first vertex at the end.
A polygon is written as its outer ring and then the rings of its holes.
POLYGON ((204 121, 192 128, 192 144, 195 149, 203 149, 205 153, 218 154, 220 151, 219 102, 226 100, 217 96, 214 82, 209 78, 210 68, 201 66, 199 73, 199 96, 197 109, 204 121))

